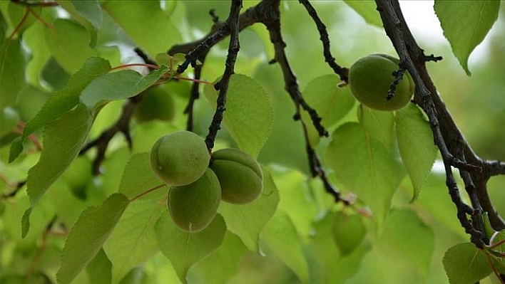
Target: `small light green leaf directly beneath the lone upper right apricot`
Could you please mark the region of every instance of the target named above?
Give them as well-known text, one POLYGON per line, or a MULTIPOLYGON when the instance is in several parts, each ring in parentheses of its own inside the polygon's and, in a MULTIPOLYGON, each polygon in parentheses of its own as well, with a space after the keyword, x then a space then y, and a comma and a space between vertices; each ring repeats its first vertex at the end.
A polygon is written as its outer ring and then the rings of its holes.
POLYGON ((382 142, 387 149, 392 149, 394 140, 393 112, 372 110, 364 105, 359 105, 358 119, 367 135, 382 142))

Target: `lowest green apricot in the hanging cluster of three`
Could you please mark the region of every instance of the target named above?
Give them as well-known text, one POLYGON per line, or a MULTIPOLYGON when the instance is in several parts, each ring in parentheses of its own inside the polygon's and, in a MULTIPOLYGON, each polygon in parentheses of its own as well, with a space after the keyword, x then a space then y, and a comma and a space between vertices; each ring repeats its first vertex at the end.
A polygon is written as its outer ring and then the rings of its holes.
POLYGON ((192 184, 172 186, 168 191, 170 218, 181 230, 198 232, 209 226, 218 212, 221 188, 218 177, 207 169, 192 184))

